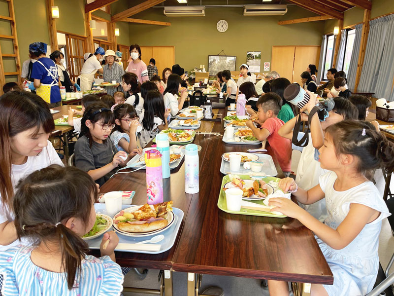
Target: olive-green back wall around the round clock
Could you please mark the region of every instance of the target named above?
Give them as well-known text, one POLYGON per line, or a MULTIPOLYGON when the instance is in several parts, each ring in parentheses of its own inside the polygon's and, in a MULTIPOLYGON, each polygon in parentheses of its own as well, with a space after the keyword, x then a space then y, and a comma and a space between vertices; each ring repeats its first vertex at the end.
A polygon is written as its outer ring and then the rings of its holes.
MULTIPOLYGON (((166 17, 162 9, 151 8, 135 18, 170 22, 171 26, 130 24, 130 43, 141 46, 175 46, 175 63, 186 71, 204 64, 208 55, 222 49, 237 57, 236 69, 246 61, 247 51, 261 51, 263 62, 271 61, 272 45, 320 45, 324 21, 278 25, 279 20, 314 16, 289 6, 284 16, 243 16, 243 8, 207 8, 205 17, 166 17), (219 33, 216 23, 225 19, 229 29, 219 33)), ((147 63, 150 57, 143 57, 147 63)), ((169 65, 171 66, 171 65, 169 65)), ((262 71, 263 69, 261 69, 262 71)))

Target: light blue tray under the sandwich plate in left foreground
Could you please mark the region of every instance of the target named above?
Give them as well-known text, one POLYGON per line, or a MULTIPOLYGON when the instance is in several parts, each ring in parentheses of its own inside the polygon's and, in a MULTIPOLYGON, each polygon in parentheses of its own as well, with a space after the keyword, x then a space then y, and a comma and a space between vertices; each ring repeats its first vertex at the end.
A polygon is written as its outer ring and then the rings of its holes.
MULTIPOLYGON (((132 207, 132 205, 122 205, 122 209, 127 209, 132 207)), ((100 214, 107 214, 107 211, 105 210, 105 204, 95 204, 95 210, 96 213, 100 214)), ((183 219, 183 211, 178 209, 178 208, 172 208, 172 212, 175 215, 175 222, 174 225, 169 227, 167 230, 163 231, 161 234, 164 235, 164 240, 162 240, 159 244, 162 245, 160 248, 160 251, 140 251, 140 250, 122 250, 122 249, 115 249, 115 251, 119 252, 130 252, 130 253, 144 253, 144 254, 160 254, 165 251, 168 251, 169 249, 172 248, 172 246, 175 243, 176 236, 179 231, 179 227, 181 226, 181 222, 183 219)), ((113 230, 113 227, 111 227, 108 230, 113 230)), ((131 236, 126 236, 122 235, 120 233, 116 233, 119 237, 119 243, 125 243, 125 244, 135 244, 144 240, 151 239, 154 237, 156 234, 152 234, 151 236, 142 236, 142 237, 131 237, 131 236)), ((102 236, 100 235, 99 237, 95 239, 91 239, 86 241, 89 245, 89 248, 91 249, 99 249, 100 244, 101 244, 102 236)))

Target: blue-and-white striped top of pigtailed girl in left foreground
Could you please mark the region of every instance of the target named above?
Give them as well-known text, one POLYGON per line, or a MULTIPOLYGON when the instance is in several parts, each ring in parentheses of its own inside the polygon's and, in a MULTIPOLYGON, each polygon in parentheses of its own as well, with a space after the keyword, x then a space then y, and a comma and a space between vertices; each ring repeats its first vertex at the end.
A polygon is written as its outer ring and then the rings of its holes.
POLYGON ((0 253, 3 296, 119 296, 123 290, 121 268, 108 256, 86 256, 82 276, 68 290, 66 273, 40 268, 30 259, 34 247, 13 248, 0 253))

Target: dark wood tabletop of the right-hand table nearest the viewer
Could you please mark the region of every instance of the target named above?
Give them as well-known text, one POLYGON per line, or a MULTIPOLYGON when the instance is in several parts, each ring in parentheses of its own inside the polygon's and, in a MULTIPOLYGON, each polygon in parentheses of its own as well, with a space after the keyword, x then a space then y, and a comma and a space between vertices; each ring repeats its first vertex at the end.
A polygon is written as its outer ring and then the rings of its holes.
MULTIPOLYGON (((222 122, 215 122, 214 132, 223 134, 223 129, 222 122)), ((253 146, 227 145, 221 138, 205 142, 198 141, 207 152, 199 172, 199 193, 191 200, 173 270, 332 284, 332 273, 313 233, 300 222, 228 214, 218 208, 221 155, 253 146)))

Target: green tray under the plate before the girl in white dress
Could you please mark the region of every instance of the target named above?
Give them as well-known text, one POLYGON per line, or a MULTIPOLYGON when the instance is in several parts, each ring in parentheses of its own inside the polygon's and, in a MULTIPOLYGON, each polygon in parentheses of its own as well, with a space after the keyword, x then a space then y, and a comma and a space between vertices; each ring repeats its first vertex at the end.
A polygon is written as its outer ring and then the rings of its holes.
MULTIPOLYGON (((248 175, 238 175, 238 176, 244 180, 252 179, 248 175)), ((266 177, 266 178, 263 178, 262 180, 265 181, 266 183, 268 183, 269 181, 276 181, 277 182, 280 179, 275 178, 275 177, 266 177)), ((227 209, 226 193, 223 190, 223 187, 228 182, 230 182, 229 176, 228 175, 224 176, 223 180, 222 180, 222 186, 220 188, 219 199, 218 199, 218 208, 221 209, 222 211, 224 211, 226 213, 238 214, 238 215, 264 216, 264 217, 272 217, 272 218, 286 218, 287 217, 286 215, 275 215, 270 212, 263 212, 263 211, 249 210, 249 209, 241 209, 241 211, 239 211, 239 212, 229 211, 227 209)), ((256 201, 248 200, 248 201, 259 204, 259 205, 264 205, 263 200, 256 200, 256 201)))

